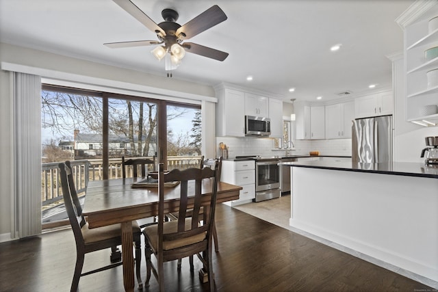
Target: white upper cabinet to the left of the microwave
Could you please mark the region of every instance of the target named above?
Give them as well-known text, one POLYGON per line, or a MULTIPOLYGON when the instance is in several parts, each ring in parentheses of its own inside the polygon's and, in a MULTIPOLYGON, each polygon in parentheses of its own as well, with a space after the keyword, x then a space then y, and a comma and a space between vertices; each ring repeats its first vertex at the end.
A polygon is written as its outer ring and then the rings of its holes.
POLYGON ((216 135, 244 137, 245 95, 239 90, 222 88, 216 94, 216 135))

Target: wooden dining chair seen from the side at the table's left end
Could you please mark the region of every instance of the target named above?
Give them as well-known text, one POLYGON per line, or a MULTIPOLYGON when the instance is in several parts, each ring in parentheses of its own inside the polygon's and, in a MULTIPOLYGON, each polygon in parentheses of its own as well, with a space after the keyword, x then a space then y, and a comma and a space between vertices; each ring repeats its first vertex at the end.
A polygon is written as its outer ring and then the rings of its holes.
MULTIPOLYGON (((94 252, 96 250, 103 250, 105 248, 112 248, 113 246, 122 244, 122 231, 120 224, 113 224, 109 226, 103 226, 99 228, 88 228, 88 223, 82 215, 81 204, 77 198, 77 192, 75 188, 75 182, 73 180, 72 168, 70 161, 60 163, 59 168, 61 170, 61 186, 62 196, 64 198, 64 205, 68 213, 68 219, 75 235, 76 241, 76 265, 75 274, 73 274, 73 281, 71 283, 70 291, 77 291, 79 285, 79 278, 89 274, 94 274, 98 271, 104 271, 122 265, 123 262, 112 263, 99 269, 87 271, 82 273, 83 261, 85 254, 94 252)), ((136 222, 133 222, 132 227, 133 241, 136 245, 136 276, 138 281, 138 288, 142 289, 142 278, 140 275, 140 262, 142 258, 141 250, 141 230, 136 222)))

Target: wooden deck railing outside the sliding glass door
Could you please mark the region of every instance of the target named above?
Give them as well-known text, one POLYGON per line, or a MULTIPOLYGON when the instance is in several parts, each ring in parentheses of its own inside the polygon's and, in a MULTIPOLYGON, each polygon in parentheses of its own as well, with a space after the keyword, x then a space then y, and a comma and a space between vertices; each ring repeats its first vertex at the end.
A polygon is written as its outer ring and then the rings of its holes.
MULTIPOLYGON (((139 157, 135 157, 139 158, 139 157)), ((144 158, 144 157, 143 157, 144 158)), ((153 159, 153 157, 146 157, 153 159)), ((110 159, 108 176, 110 179, 122 177, 122 159, 110 159)), ((170 156, 168 157, 168 170, 175 168, 186 169, 198 167, 201 163, 201 156, 170 156)), ((42 209, 47 209, 62 199, 60 183, 59 162, 42 163, 41 172, 41 202, 42 209)), ((103 179, 102 159, 75 160, 71 161, 75 186, 78 196, 85 194, 88 181, 100 181, 103 179)), ((132 166, 127 169, 127 177, 132 177, 132 166)), ((151 168, 148 170, 151 172, 151 168)))

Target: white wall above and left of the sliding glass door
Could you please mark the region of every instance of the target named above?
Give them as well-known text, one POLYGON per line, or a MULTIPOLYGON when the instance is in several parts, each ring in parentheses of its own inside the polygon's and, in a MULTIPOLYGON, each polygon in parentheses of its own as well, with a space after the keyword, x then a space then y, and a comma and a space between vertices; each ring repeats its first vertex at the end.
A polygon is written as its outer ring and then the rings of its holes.
MULTIPOLYGON (((215 99, 214 89, 209 85, 181 81, 175 78, 170 79, 164 74, 163 77, 160 77, 146 72, 117 68, 11 44, 0 43, 0 62, 2 69, 3 65, 9 66, 9 64, 23 66, 27 70, 35 68, 39 74, 42 72, 42 77, 52 79, 58 77, 71 81, 68 79, 71 77, 76 79, 74 81, 82 81, 83 83, 92 80, 97 83, 101 82, 103 85, 114 85, 116 90, 120 89, 117 86, 129 85, 132 88, 127 89, 142 94, 140 96, 148 96, 150 92, 164 92, 164 94, 192 98, 192 100, 199 98, 199 104, 201 104, 202 98, 209 101, 213 101, 211 98, 215 99), (44 76, 44 72, 50 76, 44 76)), ((33 72, 28 73, 32 74, 33 72)), ((14 144, 9 137, 12 133, 14 114, 12 112, 11 90, 9 72, 0 70, 0 161, 2 161, 0 168, 0 242, 10 240, 12 226, 10 198, 14 189, 11 162, 14 144)))

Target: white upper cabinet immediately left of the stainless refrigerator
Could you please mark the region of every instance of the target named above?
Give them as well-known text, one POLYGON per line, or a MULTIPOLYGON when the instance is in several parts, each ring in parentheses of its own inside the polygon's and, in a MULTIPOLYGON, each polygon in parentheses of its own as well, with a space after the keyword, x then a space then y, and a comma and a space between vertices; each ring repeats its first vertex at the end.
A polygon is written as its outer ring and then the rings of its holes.
POLYGON ((326 105, 326 139, 351 137, 351 121, 355 118, 355 102, 326 105))

